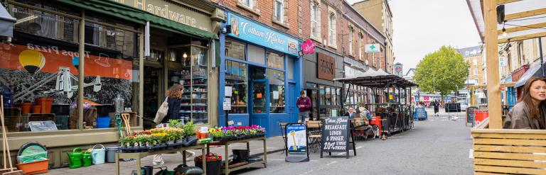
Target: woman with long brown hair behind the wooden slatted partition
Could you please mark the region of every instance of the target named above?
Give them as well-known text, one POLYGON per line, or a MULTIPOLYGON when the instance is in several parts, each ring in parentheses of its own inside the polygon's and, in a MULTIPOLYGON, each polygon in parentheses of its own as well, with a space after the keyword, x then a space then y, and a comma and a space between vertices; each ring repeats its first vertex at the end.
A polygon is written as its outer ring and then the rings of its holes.
POLYGON ((506 116, 505 129, 546 129, 546 79, 532 77, 523 86, 519 102, 506 116))

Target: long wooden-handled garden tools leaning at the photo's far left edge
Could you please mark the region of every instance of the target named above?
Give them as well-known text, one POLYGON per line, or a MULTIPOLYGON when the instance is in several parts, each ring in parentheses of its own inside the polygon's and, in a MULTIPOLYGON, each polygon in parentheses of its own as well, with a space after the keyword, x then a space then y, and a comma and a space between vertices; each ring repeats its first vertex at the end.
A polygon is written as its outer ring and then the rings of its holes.
POLYGON ((6 135, 6 126, 4 125, 4 96, 0 96, 0 120, 2 122, 2 145, 3 145, 3 152, 4 153, 4 169, 0 169, 0 172, 2 175, 17 175, 21 174, 23 175, 23 171, 14 169, 13 163, 11 163, 11 153, 9 152, 9 143, 8 143, 8 135, 6 135), (8 153, 6 155, 6 152, 8 153), (6 166, 6 159, 8 159, 9 162, 9 169, 6 166))

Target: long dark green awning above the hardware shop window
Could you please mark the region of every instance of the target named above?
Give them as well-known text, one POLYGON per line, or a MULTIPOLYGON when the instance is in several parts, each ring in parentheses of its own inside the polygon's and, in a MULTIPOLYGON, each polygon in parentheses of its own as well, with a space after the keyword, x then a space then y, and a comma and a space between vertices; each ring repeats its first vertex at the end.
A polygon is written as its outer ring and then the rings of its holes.
POLYGON ((146 21, 150 21, 150 26, 155 28, 161 28, 164 30, 171 30, 174 32, 180 32, 183 34, 194 35, 199 38, 216 39, 218 38, 214 33, 210 33, 205 30, 193 28, 183 23, 171 21, 161 16, 155 16, 147 11, 141 11, 140 9, 134 9, 131 6, 120 4, 110 0, 57 0, 65 4, 80 7, 87 11, 95 11, 97 13, 104 13, 109 16, 115 16, 134 23, 146 24, 146 21))

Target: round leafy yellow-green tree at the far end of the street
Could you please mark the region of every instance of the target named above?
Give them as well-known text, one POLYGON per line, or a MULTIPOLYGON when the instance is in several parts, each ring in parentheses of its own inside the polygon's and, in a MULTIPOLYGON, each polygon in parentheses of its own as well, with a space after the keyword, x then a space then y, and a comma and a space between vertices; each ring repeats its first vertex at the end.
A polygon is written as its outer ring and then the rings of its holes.
POLYGON ((453 47, 442 46, 417 64, 414 81, 420 91, 439 92, 443 101, 446 94, 462 89, 468 76, 469 64, 463 55, 453 47))

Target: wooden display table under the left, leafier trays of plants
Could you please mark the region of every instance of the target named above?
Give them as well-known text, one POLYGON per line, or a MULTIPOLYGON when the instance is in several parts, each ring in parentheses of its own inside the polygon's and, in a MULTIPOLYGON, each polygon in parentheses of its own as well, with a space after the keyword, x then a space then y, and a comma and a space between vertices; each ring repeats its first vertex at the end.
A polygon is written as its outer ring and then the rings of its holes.
MULTIPOLYGON (((207 146, 208 148, 208 146, 207 146)), ((190 149, 201 149, 201 156, 203 156, 203 160, 205 160, 205 144, 198 144, 196 146, 190 146, 190 147, 181 147, 178 149, 165 149, 165 150, 159 150, 154 152, 122 152, 122 153, 116 153, 116 175, 119 175, 119 159, 137 159, 137 175, 141 174, 141 163, 140 159, 155 155, 155 154, 167 154, 172 152, 182 152, 182 163, 186 164, 186 150, 190 149)), ((207 149, 208 150, 208 149, 207 149)), ((204 174, 207 174, 207 165, 205 164, 206 161, 203 161, 203 172, 204 174)))

